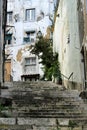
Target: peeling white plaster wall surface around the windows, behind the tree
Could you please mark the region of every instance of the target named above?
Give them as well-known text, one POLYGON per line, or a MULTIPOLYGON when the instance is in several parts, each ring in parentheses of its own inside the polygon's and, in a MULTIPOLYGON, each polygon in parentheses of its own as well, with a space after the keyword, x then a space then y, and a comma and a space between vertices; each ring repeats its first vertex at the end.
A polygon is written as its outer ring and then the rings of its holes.
MULTIPOLYGON (((6 45, 6 50, 10 50, 11 55, 11 76, 14 81, 20 81, 21 75, 25 74, 25 58, 36 57, 30 54, 30 46, 35 44, 37 32, 40 30, 43 36, 50 35, 48 28, 52 24, 49 16, 53 18, 54 1, 49 0, 8 0, 7 12, 12 12, 12 22, 7 23, 9 27, 8 34, 12 33, 12 44, 6 45), (35 8, 35 20, 26 21, 26 10, 35 8), (33 42, 24 43, 24 37, 27 36, 26 32, 33 31, 35 39, 33 42)), ((8 57, 8 58, 9 58, 8 57)), ((38 57, 36 57, 36 73, 43 75, 41 69, 42 65, 39 64, 38 57)), ((32 74, 35 74, 35 72, 32 74)))

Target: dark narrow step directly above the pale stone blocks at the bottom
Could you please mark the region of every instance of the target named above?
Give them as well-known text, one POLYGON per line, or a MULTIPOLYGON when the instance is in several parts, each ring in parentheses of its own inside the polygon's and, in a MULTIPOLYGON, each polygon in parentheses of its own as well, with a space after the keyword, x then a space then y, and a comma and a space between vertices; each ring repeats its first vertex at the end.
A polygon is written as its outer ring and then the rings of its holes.
POLYGON ((33 117, 33 118, 84 118, 87 114, 84 113, 74 113, 74 112, 20 112, 13 113, 13 116, 18 117, 33 117))

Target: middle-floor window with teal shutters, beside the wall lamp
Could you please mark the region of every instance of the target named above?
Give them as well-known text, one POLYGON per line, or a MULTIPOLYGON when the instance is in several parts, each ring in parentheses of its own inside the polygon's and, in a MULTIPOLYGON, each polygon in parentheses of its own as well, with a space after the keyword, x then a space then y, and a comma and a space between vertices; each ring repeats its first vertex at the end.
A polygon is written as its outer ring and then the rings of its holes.
POLYGON ((26 37, 23 39, 24 43, 32 43, 35 41, 35 31, 26 32, 26 37))

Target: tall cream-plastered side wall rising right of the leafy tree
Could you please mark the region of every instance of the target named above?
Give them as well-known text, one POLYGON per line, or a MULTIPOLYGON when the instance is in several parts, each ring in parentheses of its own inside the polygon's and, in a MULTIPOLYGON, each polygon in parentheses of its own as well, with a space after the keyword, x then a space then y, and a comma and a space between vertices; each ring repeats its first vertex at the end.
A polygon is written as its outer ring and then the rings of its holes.
POLYGON ((79 0, 60 0, 54 27, 54 52, 59 62, 64 86, 81 89, 84 79, 79 36, 79 0))

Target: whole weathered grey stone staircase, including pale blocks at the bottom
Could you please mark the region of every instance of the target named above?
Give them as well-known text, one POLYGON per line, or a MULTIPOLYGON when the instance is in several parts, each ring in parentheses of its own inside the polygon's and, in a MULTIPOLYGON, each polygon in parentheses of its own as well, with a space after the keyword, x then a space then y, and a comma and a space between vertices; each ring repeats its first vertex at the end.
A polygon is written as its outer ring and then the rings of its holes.
POLYGON ((1 90, 0 130, 87 130, 87 100, 79 94, 52 82, 13 82, 1 90))

